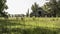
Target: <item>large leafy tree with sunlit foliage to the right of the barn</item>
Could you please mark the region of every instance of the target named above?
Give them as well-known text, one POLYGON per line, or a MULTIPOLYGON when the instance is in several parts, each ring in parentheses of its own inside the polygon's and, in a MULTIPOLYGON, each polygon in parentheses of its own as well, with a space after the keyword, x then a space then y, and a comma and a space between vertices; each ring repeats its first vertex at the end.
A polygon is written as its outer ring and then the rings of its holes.
POLYGON ((60 15, 60 2, 57 0, 50 0, 50 2, 46 3, 44 5, 44 10, 52 13, 52 15, 54 17, 59 16, 60 15), (58 4, 59 3, 59 4, 58 4))

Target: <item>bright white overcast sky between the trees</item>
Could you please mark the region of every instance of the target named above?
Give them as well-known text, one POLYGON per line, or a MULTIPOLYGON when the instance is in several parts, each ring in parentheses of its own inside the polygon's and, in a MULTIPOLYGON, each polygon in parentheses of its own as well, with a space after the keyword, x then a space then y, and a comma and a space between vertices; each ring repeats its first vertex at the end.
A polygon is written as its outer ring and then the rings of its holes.
POLYGON ((39 6, 43 6, 46 0, 7 0, 8 9, 6 12, 9 14, 26 14, 28 9, 29 12, 32 12, 31 6, 35 2, 39 6))

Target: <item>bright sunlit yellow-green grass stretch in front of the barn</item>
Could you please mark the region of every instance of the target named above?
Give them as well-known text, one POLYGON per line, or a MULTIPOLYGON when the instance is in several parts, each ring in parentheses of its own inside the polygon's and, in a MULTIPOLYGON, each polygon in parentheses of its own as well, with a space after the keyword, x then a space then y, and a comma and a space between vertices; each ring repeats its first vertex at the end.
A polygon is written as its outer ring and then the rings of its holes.
MULTIPOLYGON (((39 27, 51 27, 60 28, 60 18, 24 18, 20 19, 8 19, 9 22, 13 23, 14 26, 27 25, 27 26, 39 26, 39 27)), ((11 24, 10 24, 11 25, 11 24)), ((18 27, 19 28, 19 27, 18 27)))

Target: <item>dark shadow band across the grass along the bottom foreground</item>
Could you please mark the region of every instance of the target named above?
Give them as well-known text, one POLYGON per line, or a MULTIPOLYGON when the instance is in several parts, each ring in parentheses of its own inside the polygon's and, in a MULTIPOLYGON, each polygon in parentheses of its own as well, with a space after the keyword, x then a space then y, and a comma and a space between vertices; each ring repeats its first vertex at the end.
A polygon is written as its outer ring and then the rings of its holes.
POLYGON ((4 28, 2 33, 8 33, 8 34, 60 34, 60 29, 56 30, 50 30, 46 28, 36 27, 36 28, 30 28, 30 29, 21 29, 21 28, 14 28, 14 29, 7 29, 4 28))

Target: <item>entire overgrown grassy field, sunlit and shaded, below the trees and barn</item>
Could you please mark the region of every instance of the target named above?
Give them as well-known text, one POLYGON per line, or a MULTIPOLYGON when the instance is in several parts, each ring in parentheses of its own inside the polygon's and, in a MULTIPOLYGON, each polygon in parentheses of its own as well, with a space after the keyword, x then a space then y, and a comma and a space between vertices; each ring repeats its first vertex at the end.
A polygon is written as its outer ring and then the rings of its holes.
POLYGON ((60 34, 60 18, 0 18, 1 34, 60 34))

